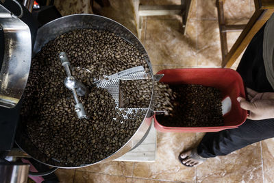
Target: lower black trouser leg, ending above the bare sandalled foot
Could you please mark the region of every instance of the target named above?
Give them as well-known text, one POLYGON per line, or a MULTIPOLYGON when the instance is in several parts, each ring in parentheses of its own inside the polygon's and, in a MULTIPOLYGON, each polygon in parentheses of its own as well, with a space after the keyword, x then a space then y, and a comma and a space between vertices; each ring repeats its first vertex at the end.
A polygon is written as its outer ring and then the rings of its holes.
POLYGON ((260 121, 247 119, 238 128, 207 133, 197 147, 197 152, 203 158, 223 156, 272 137, 274 137, 274 119, 260 121))

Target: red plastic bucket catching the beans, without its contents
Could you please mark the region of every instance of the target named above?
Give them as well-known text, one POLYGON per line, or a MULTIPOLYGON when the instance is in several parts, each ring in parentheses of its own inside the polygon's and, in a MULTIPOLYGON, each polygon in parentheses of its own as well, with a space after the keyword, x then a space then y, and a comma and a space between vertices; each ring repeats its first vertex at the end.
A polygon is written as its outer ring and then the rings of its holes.
POLYGON ((245 97, 245 88, 242 77, 232 69, 193 68, 193 69, 166 69, 157 74, 164 74, 160 82, 166 84, 201 84, 221 90, 223 99, 230 98, 231 109, 223 115, 223 126, 216 127, 166 127, 157 121, 154 115, 155 129, 160 132, 219 132, 236 128, 247 119, 247 110, 240 108, 237 97, 245 97))

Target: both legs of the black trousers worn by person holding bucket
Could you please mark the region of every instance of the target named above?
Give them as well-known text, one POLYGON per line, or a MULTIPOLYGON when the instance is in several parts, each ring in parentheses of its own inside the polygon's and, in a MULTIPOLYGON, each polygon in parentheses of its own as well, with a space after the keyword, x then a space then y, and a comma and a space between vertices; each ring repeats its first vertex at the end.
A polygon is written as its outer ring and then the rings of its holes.
MULTIPOLYGON (((264 69, 262 42, 264 27, 254 36, 238 66, 245 86, 258 92, 273 92, 264 69)), ((274 137, 274 119, 253 121, 247 119, 236 129, 207 133, 197 147, 203 158, 223 156, 266 138, 274 137)))

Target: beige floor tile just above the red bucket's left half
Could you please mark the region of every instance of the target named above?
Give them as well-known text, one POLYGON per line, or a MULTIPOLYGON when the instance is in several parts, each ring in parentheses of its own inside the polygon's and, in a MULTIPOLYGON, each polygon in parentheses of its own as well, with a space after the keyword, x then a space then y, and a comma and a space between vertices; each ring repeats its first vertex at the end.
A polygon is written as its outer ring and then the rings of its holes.
POLYGON ((190 23, 186 36, 181 23, 182 19, 147 19, 145 49, 152 64, 197 65, 195 22, 190 23))

